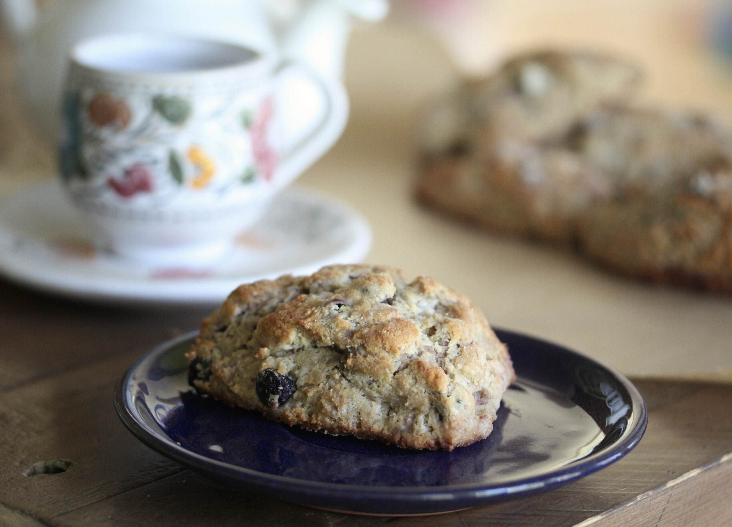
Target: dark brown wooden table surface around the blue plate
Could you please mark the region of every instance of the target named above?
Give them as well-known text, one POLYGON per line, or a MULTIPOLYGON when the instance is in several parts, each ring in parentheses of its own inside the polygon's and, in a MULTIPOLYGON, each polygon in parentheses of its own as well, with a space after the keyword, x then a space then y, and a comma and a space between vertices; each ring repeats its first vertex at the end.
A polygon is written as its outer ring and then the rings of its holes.
POLYGON ((637 380, 650 410, 623 460, 545 495, 425 517, 364 517, 230 490, 138 442, 113 386, 201 310, 97 307, 0 281, 0 525, 722 526, 732 520, 732 386, 637 380), (34 464, 69 460, 58 474, 34 464), (584 522, 584 523, 582 523, 584 522), (725 523, 726 522, 726 523, 725 523))

